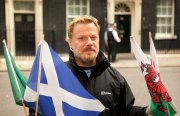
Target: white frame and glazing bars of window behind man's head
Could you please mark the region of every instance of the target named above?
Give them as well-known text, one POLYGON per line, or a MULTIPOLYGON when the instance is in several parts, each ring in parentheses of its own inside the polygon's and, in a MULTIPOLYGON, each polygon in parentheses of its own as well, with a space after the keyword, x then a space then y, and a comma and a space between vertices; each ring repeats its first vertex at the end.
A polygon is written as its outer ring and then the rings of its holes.
MULTIPOLYGON (((82 1, 83 0, 80 0, 80 4, 82 5, 82 1)), ((86 8, 87 8, 87 14, 86 15, 89 15, 89 8, 90 8, 90 6, 89 6, 89 2, 90 2, 90 0, 87 0, 87 5, 86 5, 86 8)), ((69 24, 69 22, 68 22, 68 20, 69 20, 69 18, 76 18, 76 17, 78 17, 78 16, 82 16, 82 8, 84 7, 84 6, 81 6, 81 5, 75 5, 75 4, 73 4, 73 5, 69 5, 68 4, 68 0, 66 0, 66 27, 68 27, 68 24, 69 24), (80 7, 80 15, 76 15, 76 14, 73 14, 73 15, 69 15, 68 13, 69 13, 69 7, 73 7, 73 8, 75 8, 75 7, 80 7)), ((74 11, 74 10, 73 10, 74 11)), ((66 32, 67 33, 67 32, 66 32)))

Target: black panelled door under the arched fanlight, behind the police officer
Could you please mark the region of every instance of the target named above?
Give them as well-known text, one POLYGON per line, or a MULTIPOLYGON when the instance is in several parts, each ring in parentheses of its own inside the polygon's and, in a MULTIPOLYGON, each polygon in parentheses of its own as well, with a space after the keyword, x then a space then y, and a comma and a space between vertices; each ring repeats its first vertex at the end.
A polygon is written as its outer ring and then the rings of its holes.
POLYGON ((130 52, 130 15, 115 15, 115 22, 117 23, 118 34, 121 38, 121 43, 118 43, 117 52, 129 53, 130 52))

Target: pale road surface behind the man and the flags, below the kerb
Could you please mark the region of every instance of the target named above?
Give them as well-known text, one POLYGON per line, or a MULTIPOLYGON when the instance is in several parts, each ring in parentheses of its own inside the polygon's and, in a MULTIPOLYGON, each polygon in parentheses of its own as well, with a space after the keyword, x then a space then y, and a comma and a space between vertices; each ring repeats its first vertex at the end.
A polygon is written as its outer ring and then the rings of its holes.
MULTIPOLYGON (((118 68, 128 81, 134 96, 135 105, 147 106, 150 96, 140 68, 118 68)), ((29 72, 23 72, 26 76, 29 72)), ((180 108, 180 67, 160 67, 161 79, 176 104, 180 108)), ((7 72, 0 72, 0 116, 25 116, 23 108, 14 102, 7 72)), ((179 110, 180 112, 180 110, 179 110)))

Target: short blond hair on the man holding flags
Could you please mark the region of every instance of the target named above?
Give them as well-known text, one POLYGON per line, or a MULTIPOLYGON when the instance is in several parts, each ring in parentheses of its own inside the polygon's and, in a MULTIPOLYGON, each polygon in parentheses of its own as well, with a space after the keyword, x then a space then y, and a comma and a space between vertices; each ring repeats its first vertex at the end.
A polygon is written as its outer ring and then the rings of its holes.
POLYGON ((94 23, 94 25, 97 27, 98 31, 100 32, 100 26, 99 26, 98 20, 96 18, 94 18, 92 16, 81 16, 81 17, 74 18, 73 21, 69 24, 67 39, 72 38, 74 26, 78 23, 81 23, 81 24, 94 23))

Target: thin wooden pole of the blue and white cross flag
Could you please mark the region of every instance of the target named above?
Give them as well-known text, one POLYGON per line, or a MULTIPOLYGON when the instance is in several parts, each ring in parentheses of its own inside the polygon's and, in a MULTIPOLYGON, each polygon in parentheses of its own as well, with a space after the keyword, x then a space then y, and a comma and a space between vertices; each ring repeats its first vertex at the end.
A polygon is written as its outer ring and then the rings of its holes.
POLYGON ((37 83, 37 94, 36 94, 36 111, 35 116, 37 116, 38 113, 38 102, 39 102, 39 86, 40 86, 40 80, 41 80, 41 70, 42 70, 42 49, 43 49, 43 42, 44 42, 44 35, 42 36, 41 40, 41 48, 40 48, 40 59, 39 59, 39 70, 38 70, 38 83, 37 83))

